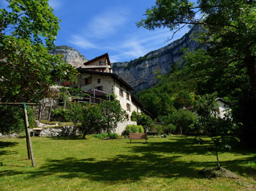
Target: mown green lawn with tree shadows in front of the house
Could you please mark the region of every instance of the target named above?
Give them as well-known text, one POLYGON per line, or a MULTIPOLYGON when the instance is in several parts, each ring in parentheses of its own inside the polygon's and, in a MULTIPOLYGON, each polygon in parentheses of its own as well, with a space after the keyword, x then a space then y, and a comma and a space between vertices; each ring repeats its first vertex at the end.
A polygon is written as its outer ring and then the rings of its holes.
MULTIPOLYGON (((207 140, 206 140, 207 141, 207 140)), ((203 178, 216 157, 193 137, 102 140, 32 137, 36 167, 25 139, 0 139, 0 190, 255 190, 255 151, 221 152, 221 166, 239 180, 203 178)))

